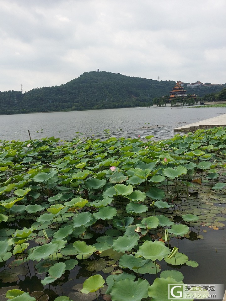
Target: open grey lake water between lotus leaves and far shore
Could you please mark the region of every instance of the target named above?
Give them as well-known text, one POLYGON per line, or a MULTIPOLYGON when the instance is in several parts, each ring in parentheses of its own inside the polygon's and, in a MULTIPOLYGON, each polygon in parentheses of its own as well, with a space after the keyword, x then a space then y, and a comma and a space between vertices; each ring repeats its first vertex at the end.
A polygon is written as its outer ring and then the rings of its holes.
POLYGON ((172 138, 174 128, 225 113, 226 108, 150 107, 2 115, 0 140, 29 140, 28 130, 31 139, 54 136, 71 140, 76 132, 105 139, 105 129, 115 137, 153 135, 154 140, 161 140, 172 138))

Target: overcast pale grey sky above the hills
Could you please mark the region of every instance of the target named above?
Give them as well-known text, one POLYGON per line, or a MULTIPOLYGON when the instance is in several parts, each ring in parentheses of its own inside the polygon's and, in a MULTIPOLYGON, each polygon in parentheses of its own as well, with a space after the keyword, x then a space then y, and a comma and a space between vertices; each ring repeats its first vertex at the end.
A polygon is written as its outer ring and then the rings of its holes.
POLYGON ((0 0, 0 91, 84 72, 226 83, 225 0, 0 0))

